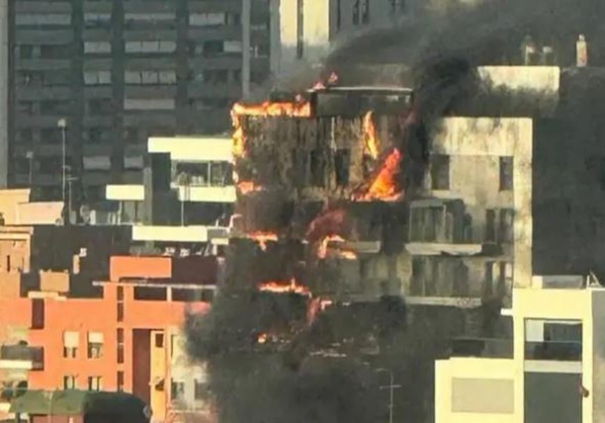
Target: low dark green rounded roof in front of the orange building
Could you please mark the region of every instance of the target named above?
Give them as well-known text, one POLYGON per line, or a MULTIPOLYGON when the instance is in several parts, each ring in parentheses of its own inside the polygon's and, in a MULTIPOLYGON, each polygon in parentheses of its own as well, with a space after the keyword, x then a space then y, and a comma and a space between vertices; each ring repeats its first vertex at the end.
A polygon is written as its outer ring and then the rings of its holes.
POLYGON ((127 393, 28 390, 23 395, 13 399, 10 412, 30 415, 112 413, 142 417, 145 407, 145 402, 127 393))

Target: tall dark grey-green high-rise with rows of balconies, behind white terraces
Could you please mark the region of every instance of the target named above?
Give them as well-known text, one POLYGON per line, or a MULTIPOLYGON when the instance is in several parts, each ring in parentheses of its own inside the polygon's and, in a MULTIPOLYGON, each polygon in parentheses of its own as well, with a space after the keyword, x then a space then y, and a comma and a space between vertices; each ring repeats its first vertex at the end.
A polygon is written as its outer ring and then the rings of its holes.
POLYGON ((227 129, 269 72, 266 0, 18 0, 6 22, 8 184, 73 208, 142 183, 149 136, 227 129))

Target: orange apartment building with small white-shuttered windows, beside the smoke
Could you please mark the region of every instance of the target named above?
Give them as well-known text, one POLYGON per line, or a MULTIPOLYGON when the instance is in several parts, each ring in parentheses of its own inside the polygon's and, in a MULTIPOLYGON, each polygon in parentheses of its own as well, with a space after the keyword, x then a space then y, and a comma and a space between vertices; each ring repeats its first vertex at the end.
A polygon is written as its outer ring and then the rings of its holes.
POLYGON ((33 292, 0 300, 5 389, 129 392, 149 404, 153 421, 182 413, 211 421, 208 375, 188 359, 181 328, 186 312, 208 312, 215 263, 115 256, 111 280, 98 282, 101 298, 33 292))

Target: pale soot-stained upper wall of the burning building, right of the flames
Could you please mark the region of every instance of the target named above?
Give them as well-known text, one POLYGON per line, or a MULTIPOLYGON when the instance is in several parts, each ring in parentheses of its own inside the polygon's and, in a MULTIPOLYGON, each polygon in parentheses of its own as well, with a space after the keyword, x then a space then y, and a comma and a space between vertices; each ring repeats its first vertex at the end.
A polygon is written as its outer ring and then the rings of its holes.
MULTIPOLYGON (((433 138, 433 154, 450 156, 450 187, 429 190, 437 198, 462 198, 485 226, 485 208, 514 208, 515 286, 532 275, 532 120, 529 118, 445 118, 433 138), (499 157, 513 157, 513 191, 499 192, 499 157), (469 172, 469 169, 473 169, 469 172), (483 208, 483 213, 480 210, 483 208)), ((430 178, 427 179, 427 184, 430 178)), ((479 225, 473 224, 474 228, 479 225)))

